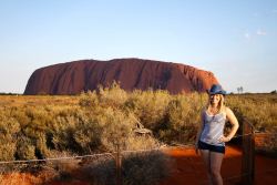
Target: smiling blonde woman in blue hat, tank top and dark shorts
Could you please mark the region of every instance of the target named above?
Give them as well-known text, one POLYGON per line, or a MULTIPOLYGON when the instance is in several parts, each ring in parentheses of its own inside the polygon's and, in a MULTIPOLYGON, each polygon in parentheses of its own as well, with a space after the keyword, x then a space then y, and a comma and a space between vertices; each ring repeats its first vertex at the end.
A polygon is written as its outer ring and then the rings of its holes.
POLYGON ((233 111, 224 105, 226 91, 219 84, 212 85, 208 91, 207 106, 202 111, 202 124, 196 136, 196 153, 201 152, 207 167, 208 181, 212 185, 222 185, 220 166, 225 154, 225 143, 229 142, 238 130, 238 122, 233 111), (226 121, 232 124, 228 135, 224 135, 226 121))

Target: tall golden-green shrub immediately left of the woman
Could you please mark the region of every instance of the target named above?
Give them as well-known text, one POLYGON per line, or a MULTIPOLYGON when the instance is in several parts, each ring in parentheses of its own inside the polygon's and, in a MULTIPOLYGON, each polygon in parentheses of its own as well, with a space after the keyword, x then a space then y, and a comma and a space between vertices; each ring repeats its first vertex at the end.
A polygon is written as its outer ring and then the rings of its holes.
POLYGON ((202 96, 196 93, 173 96, 166 109, 164 123, 158 127, 160 140, 183 144, 192 142, 201 123, 203 104, 202 96))

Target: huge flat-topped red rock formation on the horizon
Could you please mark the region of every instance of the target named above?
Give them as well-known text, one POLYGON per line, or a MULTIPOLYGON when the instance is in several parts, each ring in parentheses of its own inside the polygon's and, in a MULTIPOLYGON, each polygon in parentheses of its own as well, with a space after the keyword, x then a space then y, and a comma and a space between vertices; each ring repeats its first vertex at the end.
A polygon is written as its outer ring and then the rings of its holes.
POLYGON ((172 94, 204 92, 218 83, 212 72, 178 63, 141 59, 81 60, 35 70, 24 94, 78 94, 113 81, 126 91, 151 88, 172 94))

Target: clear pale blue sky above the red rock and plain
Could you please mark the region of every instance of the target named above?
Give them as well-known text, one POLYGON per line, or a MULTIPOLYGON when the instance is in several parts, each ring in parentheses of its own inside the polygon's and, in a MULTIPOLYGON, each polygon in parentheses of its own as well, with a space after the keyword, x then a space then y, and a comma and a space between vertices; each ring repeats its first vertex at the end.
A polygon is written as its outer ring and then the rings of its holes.
POLYGON ((275 0, 1 0, 0 92, 82 59, 141 58, 212 71, 228 92, 277 89, 275 0))

